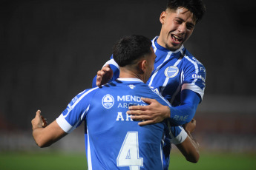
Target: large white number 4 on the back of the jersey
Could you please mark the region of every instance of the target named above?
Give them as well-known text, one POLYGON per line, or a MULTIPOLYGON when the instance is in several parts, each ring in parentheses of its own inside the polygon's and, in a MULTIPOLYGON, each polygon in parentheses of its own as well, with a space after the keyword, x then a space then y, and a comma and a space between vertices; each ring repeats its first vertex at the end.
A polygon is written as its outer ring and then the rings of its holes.
POLYGON ((130 170, 140 170, 143 158, 139 157, 138 132, 127 132, 116 158, 117 166, 129 166, 130 170))

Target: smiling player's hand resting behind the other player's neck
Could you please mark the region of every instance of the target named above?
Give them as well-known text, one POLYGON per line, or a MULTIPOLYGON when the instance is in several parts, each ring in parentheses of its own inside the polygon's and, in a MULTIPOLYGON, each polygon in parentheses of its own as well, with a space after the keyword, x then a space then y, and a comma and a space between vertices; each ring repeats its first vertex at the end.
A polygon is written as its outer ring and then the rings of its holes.
POLYGON ((102 67, 101 70, 97 72, 96 77, 96 86, 102 86, 103 84, 107 84, 108 81, 113 77, 113 70, 109 66, 109 64, 102 67))

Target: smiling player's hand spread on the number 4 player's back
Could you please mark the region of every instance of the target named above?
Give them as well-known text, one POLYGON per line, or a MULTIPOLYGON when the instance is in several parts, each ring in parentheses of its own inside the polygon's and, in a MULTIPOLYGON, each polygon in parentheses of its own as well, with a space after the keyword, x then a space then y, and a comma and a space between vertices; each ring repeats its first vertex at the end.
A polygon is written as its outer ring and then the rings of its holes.
POLYGON ((148 103, 148 106, 129 106, 128 115, 132 115, 131 119, 142 122, 140 126, 145 126, 154 123, 160 123, 165 118, 170 118, 170 109, 168 106, 163 106, 157 100, 151 98, 142 98, 142 101, 148 103))

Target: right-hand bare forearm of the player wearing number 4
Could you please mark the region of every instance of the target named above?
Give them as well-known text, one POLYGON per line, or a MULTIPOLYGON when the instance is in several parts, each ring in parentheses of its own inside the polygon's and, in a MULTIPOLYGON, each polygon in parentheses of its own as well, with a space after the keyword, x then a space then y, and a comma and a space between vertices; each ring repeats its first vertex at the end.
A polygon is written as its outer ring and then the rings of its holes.
POLYGON ((198 149, 199 143, 197 143, 197 141, 194 140, 191 136, 191 133, 194 132, 195 126, 196 120, 194 119, 192 119, 191 122, 186 123, 184 125, 184 129, 187 132, 188 136, 186 137, 186 140, 183 141, 183 143, 176 145, 180 152, 186 157, 186 160, 191 163, 197 163, 200 157, 198 149))

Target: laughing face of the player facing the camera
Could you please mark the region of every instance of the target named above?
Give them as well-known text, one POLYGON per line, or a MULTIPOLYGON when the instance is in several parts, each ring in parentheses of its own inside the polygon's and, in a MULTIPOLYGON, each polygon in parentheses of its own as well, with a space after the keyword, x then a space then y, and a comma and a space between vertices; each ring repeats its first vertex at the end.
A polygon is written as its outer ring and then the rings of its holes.
POLYGON ((178 50, 193 33, 196 24, 193 13, 180 7, 161 13, 162 29, 157 43, 168 50, 178 50))

